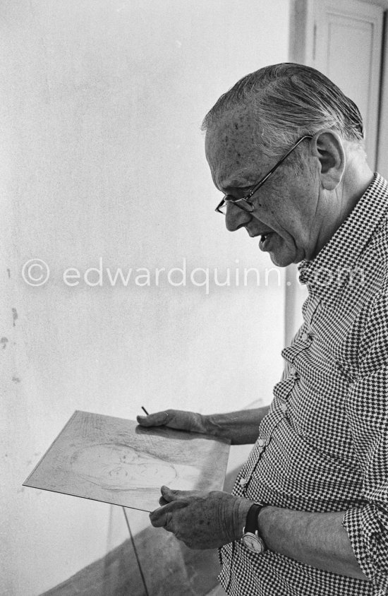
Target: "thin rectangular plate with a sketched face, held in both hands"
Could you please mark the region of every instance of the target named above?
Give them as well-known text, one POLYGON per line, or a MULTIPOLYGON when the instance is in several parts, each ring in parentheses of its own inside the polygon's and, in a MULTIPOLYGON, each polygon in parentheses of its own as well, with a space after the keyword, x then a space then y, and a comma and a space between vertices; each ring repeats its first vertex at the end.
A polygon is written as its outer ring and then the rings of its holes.
POLYGON ((154 511, 160 487, 222 490, 229 442, 76 410, 23 483, 154 511))

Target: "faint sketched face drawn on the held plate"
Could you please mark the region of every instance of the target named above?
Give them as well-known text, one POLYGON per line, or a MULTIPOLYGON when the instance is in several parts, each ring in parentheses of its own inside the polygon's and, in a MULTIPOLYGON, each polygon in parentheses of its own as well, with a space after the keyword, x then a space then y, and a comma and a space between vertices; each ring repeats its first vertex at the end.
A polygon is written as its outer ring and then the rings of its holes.
POLYGON ((176 478, 173 465, 121 443, 82 447, 70 464, 76 475, 107 490, 160 487, 176 478))

